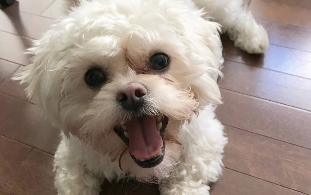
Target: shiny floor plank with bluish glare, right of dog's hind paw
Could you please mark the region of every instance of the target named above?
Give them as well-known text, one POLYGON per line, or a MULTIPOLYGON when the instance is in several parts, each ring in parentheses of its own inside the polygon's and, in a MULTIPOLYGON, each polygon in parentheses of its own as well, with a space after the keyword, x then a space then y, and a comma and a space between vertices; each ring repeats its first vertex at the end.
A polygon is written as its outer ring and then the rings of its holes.
POLYGON ((270 43, 311 52, 311 29, 267 20, 258 22, 267 29, 270 43))

